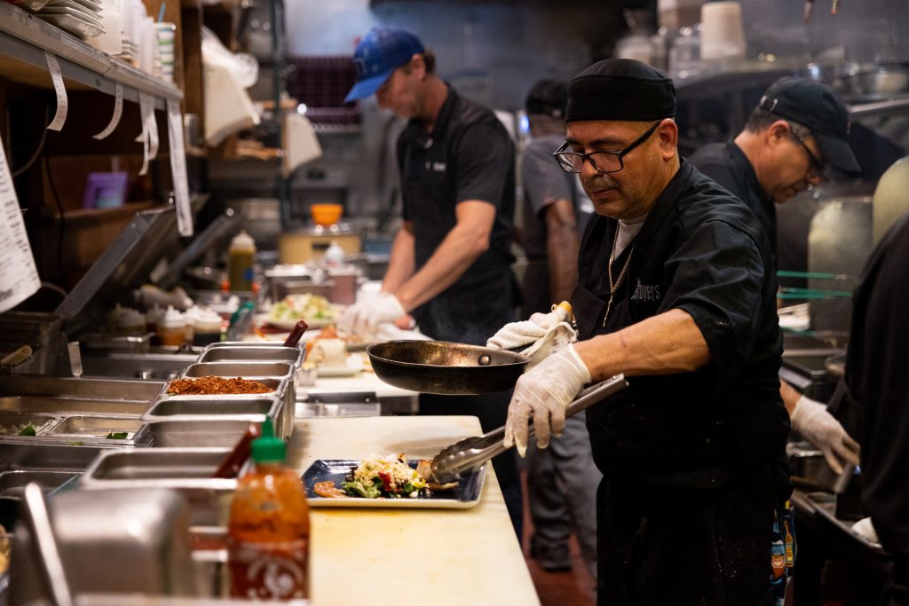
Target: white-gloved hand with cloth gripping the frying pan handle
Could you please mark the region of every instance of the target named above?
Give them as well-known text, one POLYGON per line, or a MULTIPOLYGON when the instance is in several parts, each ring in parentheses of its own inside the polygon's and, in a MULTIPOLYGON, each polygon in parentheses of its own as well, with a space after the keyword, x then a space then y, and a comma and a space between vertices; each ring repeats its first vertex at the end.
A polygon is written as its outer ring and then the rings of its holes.
POLYGON ((524 353, 530 357, 527 364, 527 370, 530 370, 551 353, 577 341, 577 333, 568 323, 570 314, 571 305, 568 303, 554 305, 550 313, 534 313, 529 320, 505 324, 486 342, 486 346, 524 353))

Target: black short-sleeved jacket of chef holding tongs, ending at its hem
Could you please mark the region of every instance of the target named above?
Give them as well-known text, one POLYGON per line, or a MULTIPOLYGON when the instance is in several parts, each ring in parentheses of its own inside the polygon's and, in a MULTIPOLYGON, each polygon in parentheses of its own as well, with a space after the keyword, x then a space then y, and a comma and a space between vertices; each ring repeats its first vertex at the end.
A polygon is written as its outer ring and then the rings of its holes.
POLYGON ((781 460, 789 430, 777 378, 783 338, 770 244, 754 213, 683 162, 634 250, 615 259, 621 268, 632 254, 603 328, 604 305, 595 300, 608 299, 614 229, 614 220, 594 215, 584 233, 578 269, 594 313, 584 317, 584 305, 575 305, 579 338, 677 308, 704 335, 711 363, 691 373, 634 377, 624 392, 589 409, 597 465, 612 475, 709 487, 736 470, 781 460))

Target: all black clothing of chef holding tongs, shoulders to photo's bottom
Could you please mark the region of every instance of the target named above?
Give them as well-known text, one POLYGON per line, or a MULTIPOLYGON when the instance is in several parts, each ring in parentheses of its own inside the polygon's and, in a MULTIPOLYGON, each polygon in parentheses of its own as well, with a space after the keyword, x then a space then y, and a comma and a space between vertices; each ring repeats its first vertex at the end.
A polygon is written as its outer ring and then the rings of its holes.
POLYGON ((586 412, 604 473, 597 601, 767 603, 789 417, 766 235, 747 206, 683 161, 614 260, 615 275, 631 255, 604 321, 616 228, 594 216, 584 233, 572 300, 579 339, 678 308, 694 318, 712 362, 634 377, 586 412))

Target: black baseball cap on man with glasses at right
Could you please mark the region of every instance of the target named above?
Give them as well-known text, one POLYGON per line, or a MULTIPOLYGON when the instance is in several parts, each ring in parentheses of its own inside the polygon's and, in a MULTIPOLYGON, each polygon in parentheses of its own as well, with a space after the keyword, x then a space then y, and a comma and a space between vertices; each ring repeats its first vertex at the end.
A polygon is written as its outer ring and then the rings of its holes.
POLYGON ((862 172, 849 147, 849 110, 824 84, 786 76, 771 84, 758 107, 811 131, 824 161, 844 173, 862 172))

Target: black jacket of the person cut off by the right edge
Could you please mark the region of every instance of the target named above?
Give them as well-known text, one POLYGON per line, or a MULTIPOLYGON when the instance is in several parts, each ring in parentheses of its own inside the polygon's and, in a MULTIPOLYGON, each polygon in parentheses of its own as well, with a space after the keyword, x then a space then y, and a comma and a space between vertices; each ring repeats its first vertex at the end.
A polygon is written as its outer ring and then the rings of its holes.
POLYGON ((844 381, 830 408, 862 444, 862 498, 909 604, 909 216, 884 235, 853 297, 844 381), (842 389, 845 386, 846 392, 842 389), (838 397, 839 396, 839 397, 838 397))

